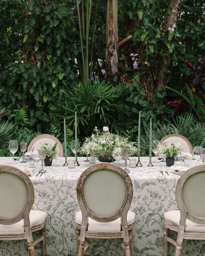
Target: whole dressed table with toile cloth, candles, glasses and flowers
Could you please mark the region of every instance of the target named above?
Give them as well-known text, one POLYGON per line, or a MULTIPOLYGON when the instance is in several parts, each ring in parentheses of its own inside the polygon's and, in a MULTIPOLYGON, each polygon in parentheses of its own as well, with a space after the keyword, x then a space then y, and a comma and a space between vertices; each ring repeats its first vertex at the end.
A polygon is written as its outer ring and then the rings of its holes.
MULTIPOLYGON (((10 152, 13 153, 15 150, 17 152, 17 146, 18 142, 17 145, 16 142, 9 142, 10 152)), ((133 199, 130 206, 130 210, 135 212, 133 255, 163 255, 163 213, 178 209, 175 187, 180 175, 183 175, 189 167, 200 164, 199 158, 202 161, 205 159, 205 149, 200 146, 194 147, 192 156, 190 153, 182 152, 180 143, 160 143, 158 140, 152 140, 151 119, 147 157, 140 157, 140 125, 137 147, 133 142, 128 141, 128 138, 110 133, 107 126, 103 127, 102 132, 95 127, 92 135, 86 138, 80 147, 76 114, 75 139, 71 143, 74 157, 67 156, 65 120, 64 157, 56 157, 55 153, 48 154, 49 151, 55 152, 55 145, 43 143, 41 148, 34 147, 31 152, 26 152, 25 147, 24 142, 24 148, 21 147, 21 152, 24 154, 22 161, 14 160, 15 152, 13 153, 13 164, 24 172, 31 172, 30 179, 35 189, 33 209, 48 213, 47 255, 51 256, 77 255, 75 234, 75 212, 79 211, 76 196, 77 181, 84 170, 102 161, 111 162, 125 169, 133 183, 133 199), (153 161, 152 152, 155 154, 153 161), (78 153, 85 157, 79 157, 78 153), (135 153, 138 153, 137 157, 133 157, 135 153), (44 164, 47 155, 53 160, 50 166, 44 164), (167 166, 169 165, 166 161, 167 157, 172 157, 174 164, 167 166), (31 159, 32 163, 30 163, 31 159), (31 164, 33 164, 32 168, 31 164)), ((1 157, 0 164, 12 164, 11 160, 11 157, 1 157)), ((119 240, 88 240, 88 243, 91 243, 88 255, 92 254, 93 250, 101 255, 107 255, 108 251, 111 254, 123 255, 119 240)), ((197 242, 200 243, 202 242, 197 242)), ((185 247, 191 251, 192 242, 185 247)), ((35 248, 36 253, 41 253, 40 248, 35 248)), ((14 252, 20 253, 19 255, 27 253, 25 241, 18 244, 3 241, 1 250, 4 254, 9 252, 10 255, 14 252)), ((170 254, 173 250, 170 246, 170 254)), ((197 252, 196 248, 194 250, 197 252)))

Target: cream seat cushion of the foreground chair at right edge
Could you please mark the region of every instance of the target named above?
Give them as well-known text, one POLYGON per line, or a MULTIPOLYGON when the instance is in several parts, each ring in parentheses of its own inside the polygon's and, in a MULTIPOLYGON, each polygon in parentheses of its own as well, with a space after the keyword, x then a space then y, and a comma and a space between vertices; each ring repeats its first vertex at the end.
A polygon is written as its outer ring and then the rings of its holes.
MULTIPOLYGON (((179 226, 180 211, 179 210, 167 211, 166 213, 164 213, 164 218, 170 223, 179 226)), ((186 232, 205 232, 205 224, 197 224, 190 220, 187 220, 185 231, 186 232)))

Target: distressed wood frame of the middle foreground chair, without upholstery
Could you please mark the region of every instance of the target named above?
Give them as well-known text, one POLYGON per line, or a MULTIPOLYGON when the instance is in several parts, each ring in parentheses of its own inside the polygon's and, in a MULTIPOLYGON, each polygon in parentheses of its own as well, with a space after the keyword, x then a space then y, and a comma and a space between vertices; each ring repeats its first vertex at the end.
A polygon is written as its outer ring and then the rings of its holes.
POLYGON ((88 243, 86 238, 123 238, 121 247, 125 251, 125 256, 131 255, 132 248, 132 230, 133 223, 127 225, 127 213, 130 208, 130 204, 133 196, 133 185, 129 175, 115 164, 110 163, 100 163, 94 164, 91 167, 87 168, 80 176, 77 183, 77 199, 82 212, 82 223, 81 225, 76 223, 76 239, 77 239, 77 250, 78 256, 83 256, 84 252, 88 249, 88 243), (122 207, 113 215, 109 216, 100 216, 93 213, 88 206, 86 205, 83 193, 83 185, 86 177, 96 170, 108 169, 120 174, 126 184, 126 198, 122 207), (99 222, 110 222, 118 218, 121 218, 121 231, 119 232, 94 232, 88 231, 88 217, 99 222))

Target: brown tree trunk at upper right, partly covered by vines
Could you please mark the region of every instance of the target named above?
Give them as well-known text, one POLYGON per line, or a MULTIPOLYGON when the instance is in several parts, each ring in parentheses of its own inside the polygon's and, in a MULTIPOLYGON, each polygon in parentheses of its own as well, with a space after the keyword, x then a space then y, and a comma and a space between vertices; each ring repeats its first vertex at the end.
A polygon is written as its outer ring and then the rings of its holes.
MULTIPOLYGON (((180 0, 170 0, 168 9, 172 9, 172 13, 165 18, 163 31, 167 31, 168 28, 172 27, 174 23, 177 23, 178 11, 180 9, 180 0)), ((158 72, 158 91, 162 91, 164 86, 167 84, 168 73, 167 70, 170 68, 170 57, 169 57, 169 50, 165 44, 162 44, 163 53, 165 57, 161 57, 160 63, 161 68, 158 72)))

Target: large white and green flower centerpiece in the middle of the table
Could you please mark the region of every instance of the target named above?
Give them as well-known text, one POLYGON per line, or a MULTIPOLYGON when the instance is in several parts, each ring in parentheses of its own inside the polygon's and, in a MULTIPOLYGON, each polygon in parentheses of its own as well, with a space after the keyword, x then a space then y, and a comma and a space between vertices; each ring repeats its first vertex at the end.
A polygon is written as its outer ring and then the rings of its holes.
POLYGON ((83 155, 88 153, 96 156, 99 161, 101 157, 107 157, 109 162, 113 162, 112 154, 114 147, 130 148, 131 155, 137 151, 133 142, 129 142, 128 138, 110 133, 108 126, 104 126, 102 133, 95 127, 92 135, 86 138, 86 143, 82 145, 80 152, 83 155))

